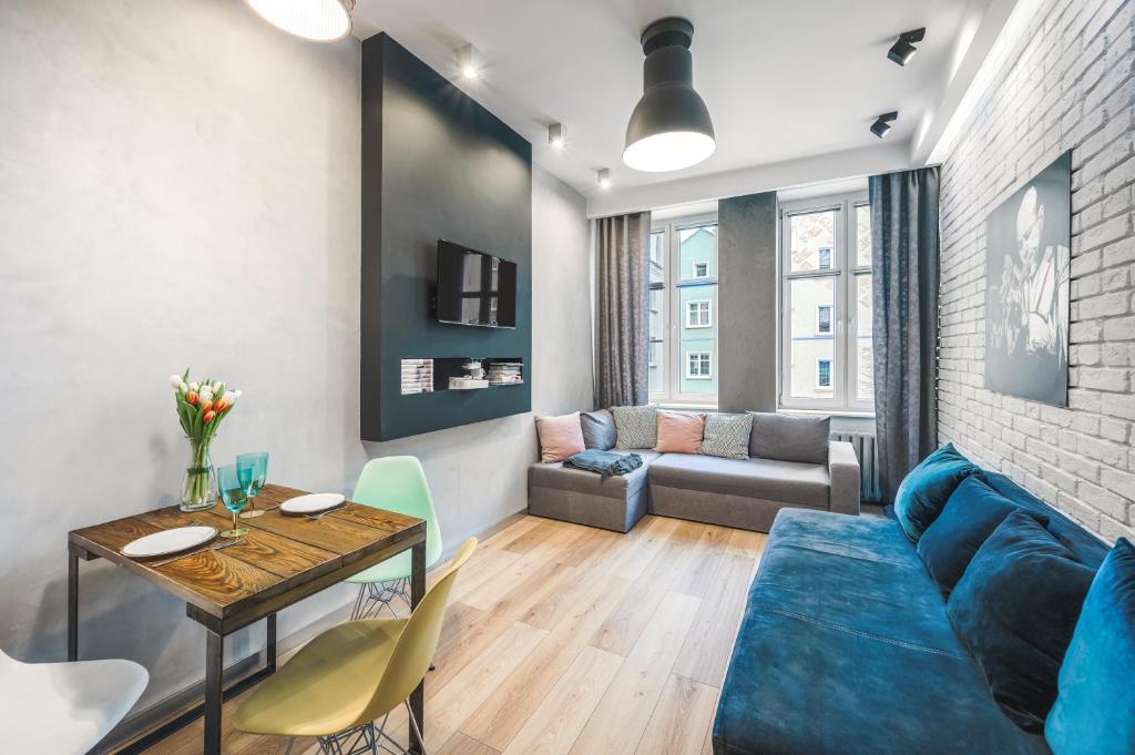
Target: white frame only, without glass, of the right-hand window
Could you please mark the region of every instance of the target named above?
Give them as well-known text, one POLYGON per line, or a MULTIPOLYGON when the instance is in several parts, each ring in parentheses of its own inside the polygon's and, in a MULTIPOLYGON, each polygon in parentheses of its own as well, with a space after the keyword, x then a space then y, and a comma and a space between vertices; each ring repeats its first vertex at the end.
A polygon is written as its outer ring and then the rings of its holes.
MULTIPOLYGON (((857 285, 860 276, 873 275, 871 265, 858 265, 858 223, 856 210, 868 204, 867 192, 851 192, 848 194, 835 194, 817 196, 805 200, 780 202, 777 207, 777 267, 780 270, 779 299, 780 318, 779 337, 781 341, 777 353, 780 354, 781 367, 777 370, 777 396, 779 405, 788 410, 826 411, 832 413, 866 413, 874 414, 874 399, 860 400, 857 397, 858 375, 859 375, 859 350, 858 350, 858 291, 857 285), (836 212, 834 224, 834 238, 830 268, 792 271, 792 244, 790 220, 792 216, 809 215, 812 212, 832 211, 836 212), (792 282, 801 279, 833 279, 832 296, 832 330, 834 344, 831 359, 831 395, 822 399, 816 397, 793 397, 791 395, 791 370, 792 370, 792 282)), ((815 335, 829 335, 819 333, 819 308, 816 310, 816 333, 815 335)), ((815 370, 815 383, 817 391, 829 391, 821 388, 818 361, 815 370)))

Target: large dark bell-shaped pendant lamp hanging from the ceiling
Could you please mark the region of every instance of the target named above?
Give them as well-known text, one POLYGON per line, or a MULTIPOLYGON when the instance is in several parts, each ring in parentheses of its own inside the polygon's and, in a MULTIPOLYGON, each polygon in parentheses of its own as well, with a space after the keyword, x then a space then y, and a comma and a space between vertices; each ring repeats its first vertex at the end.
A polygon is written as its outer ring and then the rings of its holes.
POLYGON ((663 18, 642 32, 642 99, 627 124, 623 162, 663 173, 695 166, 717 149, 713 121, 693 91, 693 24, 663 18))

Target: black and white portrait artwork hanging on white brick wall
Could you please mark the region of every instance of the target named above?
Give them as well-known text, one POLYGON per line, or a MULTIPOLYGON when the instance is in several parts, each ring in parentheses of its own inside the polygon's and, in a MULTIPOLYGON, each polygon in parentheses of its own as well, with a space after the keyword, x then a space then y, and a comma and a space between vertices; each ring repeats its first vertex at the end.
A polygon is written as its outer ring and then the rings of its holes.
POLYGON ((985 387, 1068 405, 1071 152, 990 212, 985 387))

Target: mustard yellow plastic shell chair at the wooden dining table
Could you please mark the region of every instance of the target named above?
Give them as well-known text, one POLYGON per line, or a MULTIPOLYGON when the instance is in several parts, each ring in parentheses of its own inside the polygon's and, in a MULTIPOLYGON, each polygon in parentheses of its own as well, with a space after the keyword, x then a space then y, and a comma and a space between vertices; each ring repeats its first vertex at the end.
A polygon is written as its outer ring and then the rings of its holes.
POLYGON ((477 538, 465 540, 409 619, 348 621, 304 645, 249 695, 233 725, 291 737, 287 753, 296 737, 317 737, 328 755, 378 753, 380 738, 406 753, 384 731, 390 711, 404 704, 421 744, 410 693, 429 669, 457 570, 476 547, 477 538))

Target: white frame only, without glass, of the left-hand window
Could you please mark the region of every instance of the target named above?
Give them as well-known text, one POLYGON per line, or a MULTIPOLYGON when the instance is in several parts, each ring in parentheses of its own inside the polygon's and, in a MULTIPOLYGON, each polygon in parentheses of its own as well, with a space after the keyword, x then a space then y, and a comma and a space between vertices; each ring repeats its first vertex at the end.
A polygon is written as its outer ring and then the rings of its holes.
MULTIPOLYGON (((717 394, 699 394, 699 393, 682 393, 682 378, 686 376, 688 370, 688 361, 683 363, 686 354, 682 351, 682 329, 686 325, 687 313, 684 308, 682 308, 682 286, 679 284, 683 282, 696 280, 703 284, 718 284, 716 277, 712 275, 718 249, 716 248, 717 241, 720 241, 720 225, 717 221, 716 212, 706 212, 698 215, 688 215, 679 218, 665 218, 657 220, 650 225, 650 233, 662 233, 662 257, 665 262, 663 266, 663 284, 662 288, 666 292, 663 299, 663 321, 665 322, 664 336, 661 345, 661 356, 663 360, 662 368, 662 392, 651 392, 649 394, 650 403, 662 404, 662 405, 697 405, 712 408, 717 405, 717 394), (681 270, 681 248, 678 243, 679 235, 682 230, 690 228, 697 228, 699 226, 714 225, 717 227, 717 233, 714 235, 715 248, 714 248, 714 260, 709 261, 706 266, 706 271, 711 275, 706 277, 684 277, 684 271, 681 270), (675 271, 678 271, 678 277, 675 278, 675 271), (679 319, 679 317, 681 319, 679 319)), ((649 255, 648 255, 649 257, 649 255)), ((690 272, 696 272, 696 269, 691 269, 690 272)), ((654 286, 649 283, 648 285, 654 286)), ((717 288, 720 295, 720 287, 717 288)), ((706 301, 706 300, 698 300, 706 301)), ((713 379, 714 375, 717 372, 716 361, 717 355, 717 321, 713 314, 713 303, 712 300, 709 304, 709 325, 701 326, 699 330, 708 330, 714 344, 713 351, 709 355, 709 375, 700 377, 687 376, 687 379, 713 379)), ((703 353, 703 352, 699 352, 703 353)))

